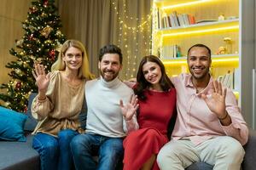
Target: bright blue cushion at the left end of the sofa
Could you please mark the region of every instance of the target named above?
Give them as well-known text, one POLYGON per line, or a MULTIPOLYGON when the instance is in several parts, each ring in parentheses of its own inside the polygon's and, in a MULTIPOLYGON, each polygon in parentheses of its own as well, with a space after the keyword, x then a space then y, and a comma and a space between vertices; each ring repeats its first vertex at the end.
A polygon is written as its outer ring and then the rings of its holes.
POLYGON ((23 133, 26 115, 0 107, 0 139, 25 142, 23 133))

